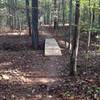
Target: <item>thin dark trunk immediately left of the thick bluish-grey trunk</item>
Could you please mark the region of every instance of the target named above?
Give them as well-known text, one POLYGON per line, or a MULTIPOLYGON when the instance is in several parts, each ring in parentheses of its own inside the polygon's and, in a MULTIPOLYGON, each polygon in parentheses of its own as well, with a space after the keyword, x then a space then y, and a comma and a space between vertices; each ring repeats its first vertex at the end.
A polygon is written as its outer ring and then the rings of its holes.
POLYGON ((27 22, 28 22, 28 28, 29 28, 29 36, 31 36, 29 0, 26 0, 26 16, 27 16, 27 22))

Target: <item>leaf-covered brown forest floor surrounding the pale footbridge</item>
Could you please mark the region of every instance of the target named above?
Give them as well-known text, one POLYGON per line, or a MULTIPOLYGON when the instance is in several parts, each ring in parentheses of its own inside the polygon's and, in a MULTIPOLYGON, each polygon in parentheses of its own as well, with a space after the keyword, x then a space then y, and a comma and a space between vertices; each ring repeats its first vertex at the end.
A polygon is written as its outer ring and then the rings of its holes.
POLYGON ((90 55, 86 60, 86 41, 82 38, 78 76, 69 76, 64 33, 64 29, 41 30, 38 51, 32 50, 27 34, 0 34, 0 100, 100 100, 100 56, 90 55), (44 56, 46 37, 56 38, 62 56, 44 56))

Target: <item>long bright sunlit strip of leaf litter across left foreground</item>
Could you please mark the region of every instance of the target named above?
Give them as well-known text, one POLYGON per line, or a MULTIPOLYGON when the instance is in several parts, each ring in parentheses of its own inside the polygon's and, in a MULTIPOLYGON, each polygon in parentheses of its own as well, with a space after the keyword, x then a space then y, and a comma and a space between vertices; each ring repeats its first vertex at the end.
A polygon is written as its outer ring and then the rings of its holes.
MULTIPOLYGON (((32 74, 32 73, 31 73, 32 74)), ((0 72, 0 81, 7 80, 9 83, 16 82, 20 84, 32 85, 32 84, 49 84, 58 81, 57 78, 42 76, 33 76, 30 73, 21 72, 17 69, 15 70, 1 70, 0 72)))

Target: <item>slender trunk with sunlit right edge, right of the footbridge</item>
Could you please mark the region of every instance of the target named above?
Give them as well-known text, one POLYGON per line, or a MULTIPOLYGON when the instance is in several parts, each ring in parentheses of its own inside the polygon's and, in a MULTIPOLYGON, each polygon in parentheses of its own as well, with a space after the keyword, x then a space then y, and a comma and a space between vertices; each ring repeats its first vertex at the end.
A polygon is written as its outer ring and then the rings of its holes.
POLYGON ((72 41, 72 52, 70 56, 70 75, 77 75, 77 56, 79 47, 79 22, 80 22, 80 0, 76 0, 75 27, 72 41))

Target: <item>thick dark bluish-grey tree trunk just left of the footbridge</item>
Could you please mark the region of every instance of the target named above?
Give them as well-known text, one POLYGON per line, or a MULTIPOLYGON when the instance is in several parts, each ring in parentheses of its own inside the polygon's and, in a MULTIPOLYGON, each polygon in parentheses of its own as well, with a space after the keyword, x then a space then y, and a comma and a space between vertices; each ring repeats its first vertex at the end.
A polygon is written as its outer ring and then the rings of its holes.
POLYGON ((32 47, 38 49, 38 0, 32 0, 32 47))

